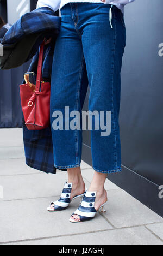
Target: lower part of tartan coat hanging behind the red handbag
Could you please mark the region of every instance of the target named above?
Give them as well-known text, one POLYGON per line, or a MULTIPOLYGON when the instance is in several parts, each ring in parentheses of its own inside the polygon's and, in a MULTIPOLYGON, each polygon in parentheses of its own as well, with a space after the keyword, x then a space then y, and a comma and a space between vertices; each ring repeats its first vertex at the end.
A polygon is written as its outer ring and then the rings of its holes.
MULTIPOLYGON (((43 63, 42 63, 42 77, 51 78, 52 73, 52 63, 53 63, 53 53, 54 45, 45 45, 43 51, 43 63)), ((37 63, 39 57, 39 50, 37 50, 36 55, 33 57, 27 72, 37 73, 37 63)), ((23 79, 22 84, 25 81, 23 79)), ((42 130, 28 130, 24 121, 24 116, 22 112, 22 128, 23 128, 23 143, 24 152, 26 157, 26 164, 34 169, 56 174, 56 168, 54 167, 53 158, 53 142, 51 127, 47 127, 42 130)), ((64 170, 65 169, 60 169, 64 170)))

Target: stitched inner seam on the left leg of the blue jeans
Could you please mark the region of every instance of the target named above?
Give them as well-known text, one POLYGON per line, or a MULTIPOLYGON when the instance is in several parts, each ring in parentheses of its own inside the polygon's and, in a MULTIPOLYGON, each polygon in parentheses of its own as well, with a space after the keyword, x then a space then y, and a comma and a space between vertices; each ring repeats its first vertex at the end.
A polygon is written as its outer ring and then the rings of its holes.
MULTIPOLYGON (((80 84, 82 80, 82 70, 83 70, 83 62, 84 62, 84 55, 82 55, 82 62, 79 69, 79 81, 78 81, 78 87, 77 87, 77 94, 76 94, 76 105, 75 110, 78 110, 78 103, 79 103, 79 91, 80 91, 80 84)), ((74 130, 75 137, 76 137, 76 163, 79 164, 79 144, 78 144, 78 130, 74 130)))

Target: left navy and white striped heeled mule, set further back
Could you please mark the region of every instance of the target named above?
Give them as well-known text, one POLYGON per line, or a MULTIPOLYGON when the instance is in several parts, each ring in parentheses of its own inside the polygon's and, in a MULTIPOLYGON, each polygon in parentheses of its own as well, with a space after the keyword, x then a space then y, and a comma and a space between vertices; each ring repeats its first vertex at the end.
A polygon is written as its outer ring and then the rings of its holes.
POLYGON ((49 212, 54 212, 54 211, 62 211, 65 210, 71 203, 72 200, 76 198, 81 198, 83 199, 83 196, 85 195, 86 191, 83 194, 76 195, 72 199, 70 199, 71 196, 71 190, 72 190, 72 183, 65 183, 64 189, 62 190, 60 199, 52 202, 50 207, 47 207, 47 210, 49 212))

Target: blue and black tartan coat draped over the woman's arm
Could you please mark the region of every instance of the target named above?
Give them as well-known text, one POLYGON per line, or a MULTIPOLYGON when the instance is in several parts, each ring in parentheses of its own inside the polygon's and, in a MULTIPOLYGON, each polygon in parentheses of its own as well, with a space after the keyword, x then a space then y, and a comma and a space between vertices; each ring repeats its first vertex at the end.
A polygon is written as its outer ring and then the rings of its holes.
MULTIPOLYGON (((45 35, 46 38, 51 36, 51 43, 45 45, 44 47, 42 64, 42 78, 51 80, 55 39, 57 37, 57 34, 59 33, 60 19, 60 17, 54 16, 54 12, 50 8, 41 7, 35 9, 31 13, 24 14, 20 20, 12 25, 7 34, 5 34, 5 37, 2 40, 2 44, 6 45, 6 47, 7 44, 10 44, 12 46, 12 49, 15 49, 16 53, 15 55, 13 55, 14 58, 15 56, 18 58, 20 54, 24 54, 23 60, 20 59, 20 61, 17 61, 16 65, 19 65, 20 63, 22 64, 24 63, 24 61, 28 61, 33 56, 32 62, 30 63, 30 67, 27 71, 36 73, 37 61, 39 56, 39 45, 42 43, 45 35), (37 36, 38 33, 39 37, 37 36), (26 46, 23 46, 23 49, 26 49, 28 55, 24 53, 24 51, 22 52, 21 49, 24 43, 24 34, 26 35, 26 39, 27 37, 29 37, 28 44, 26 44, 26 46), (30 38, 32 40, 30 40, 30 38), (20 44, 18 44, 18 46, 15 46, 15 43, 20 44)), ((8 51, 6 54, 8 54, 8 51)), ((10 58, 10 61, 8 60, 9 57, 5 56, 5 59, 2 60, 2 65, 0 57, 0 66, 2 66, 3 69, 8 69, 10 67, 12 68, 13 66, 15 66, 15 60, 12 59, 12 56, 10 58)), ((24 82, 25 81, 23 79, 22 84, 24 84, 24 82)), ((85 67, 82 79, 82 93, 80 95, 80 101, 82 106, 84 103, 87 86, 88 81, 85 67)), ((24 122, 22 112, 22 127, 26 164, 37 170, 47 173, 51 172, 55 174, 56 168, 54 167, 51 126, 42 130, 28 130, 24 122)), ((66 169, 60 170, 66 171, 66 169)))

